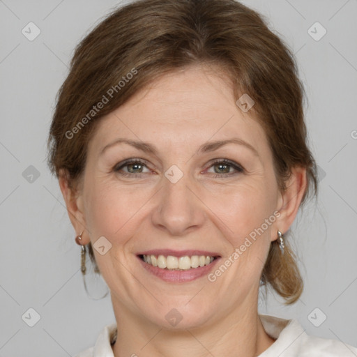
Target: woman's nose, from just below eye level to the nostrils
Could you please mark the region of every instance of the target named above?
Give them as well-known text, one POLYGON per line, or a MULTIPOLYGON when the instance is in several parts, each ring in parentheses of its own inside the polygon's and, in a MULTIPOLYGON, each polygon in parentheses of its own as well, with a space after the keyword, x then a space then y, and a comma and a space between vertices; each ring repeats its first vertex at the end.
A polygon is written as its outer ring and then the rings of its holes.
POLYGON ((162 176, 162 185, 153 210, 153 225, 172 236, 184 236, 202 227, 206 217, 204 200, 190 174, 183 174, 176 183, 162 176))

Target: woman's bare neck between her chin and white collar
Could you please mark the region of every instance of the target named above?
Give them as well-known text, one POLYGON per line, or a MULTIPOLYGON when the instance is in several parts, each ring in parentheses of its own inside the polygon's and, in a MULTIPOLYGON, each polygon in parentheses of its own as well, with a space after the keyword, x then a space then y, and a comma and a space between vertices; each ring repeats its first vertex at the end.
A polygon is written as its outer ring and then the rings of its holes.
POLYGON ((242 304, 213 324, 175 331, 143 321, 114 300, 113 307, 118 312, 114 357, 255 357, 275 341, 264 331, 257 305, 247 308, 242 304))

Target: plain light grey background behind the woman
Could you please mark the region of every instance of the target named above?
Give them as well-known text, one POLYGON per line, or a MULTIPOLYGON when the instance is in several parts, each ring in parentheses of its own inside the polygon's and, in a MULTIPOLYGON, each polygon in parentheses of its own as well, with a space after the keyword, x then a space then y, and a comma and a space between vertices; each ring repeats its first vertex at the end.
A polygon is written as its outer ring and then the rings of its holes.
MULTIPOLYGON (((356 346, 357 1, 243 3, 266 15, 296 54, 320 167, 319 199, 292 227, 303 296, 284 307, 270 294, 259 311, 298 319, 307 333, 356 346), (327 30, 319 41, 307 32, 315 22, 327 30), (326 321, 315 327, 311 316, 317 324, 323 314, 326 321)), ((74 356, 115 321, 109 294, 96 300, 107 291, 101 278, 87 281, 92 298, 84 290, 80 248, 45 159, 56 92, 75 45, 117 4, 0 1, 0 356, 74 356), (41 31, 33 41, 22 34, 29 22, 41 31), (22 318, 29 308, 40 315, 33 327, 24 322, 33 312, 22 318)))

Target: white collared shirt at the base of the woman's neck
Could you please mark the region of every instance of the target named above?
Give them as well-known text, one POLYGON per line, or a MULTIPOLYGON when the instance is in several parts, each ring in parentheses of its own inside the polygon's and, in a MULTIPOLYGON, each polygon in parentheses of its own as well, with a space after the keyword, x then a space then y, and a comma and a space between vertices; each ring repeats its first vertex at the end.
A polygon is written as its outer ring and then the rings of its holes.
MULTIPOLYGON (((259 314, 261 324, 276 341, 258 357, 356 357, 357 348, 337 340, 307 335, 297 320, 259 314)), ((75 357, 114 357, 110 344, 116 323, 105 326, 94 347, 75 357)))

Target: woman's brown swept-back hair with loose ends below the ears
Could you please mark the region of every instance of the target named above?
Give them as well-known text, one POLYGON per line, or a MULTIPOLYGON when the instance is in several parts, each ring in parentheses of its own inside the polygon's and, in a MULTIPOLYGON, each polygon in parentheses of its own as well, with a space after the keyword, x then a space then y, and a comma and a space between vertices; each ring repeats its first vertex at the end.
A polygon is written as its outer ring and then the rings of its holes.
MULTIPOLYGON (((300 165, 307 169, 302 203, 309 189, 317 194, 294 55, 264 17, 234 0, 139 0, 100 22, 77 45, 56 98, 48 138, 52 174, 59 178, 65 169, 75 188, 99 119, 159 76, 194 64, 219 66, 231 79, 236 100, 243 93, 255 100, 250 113, 268 137, 280 190, 291 168, 300 165), (98 105, 104 98, 108 102, 98 105)), ((96 266, 91 243, 89 255, 96 266)), ((261 283, 271 284, 286 304, 301 296, 303 281, 289 245, 280 255, 272 242, 261 283)))

